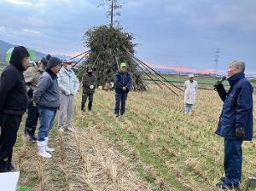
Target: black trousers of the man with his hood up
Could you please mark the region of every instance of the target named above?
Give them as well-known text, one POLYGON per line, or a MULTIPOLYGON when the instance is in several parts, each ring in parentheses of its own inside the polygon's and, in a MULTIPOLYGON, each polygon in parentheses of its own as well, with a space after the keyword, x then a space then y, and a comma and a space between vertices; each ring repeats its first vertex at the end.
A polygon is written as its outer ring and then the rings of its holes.
POLYGON ((0 114, 0 172, 9 171, 22 116, 0 114))

